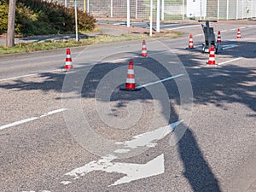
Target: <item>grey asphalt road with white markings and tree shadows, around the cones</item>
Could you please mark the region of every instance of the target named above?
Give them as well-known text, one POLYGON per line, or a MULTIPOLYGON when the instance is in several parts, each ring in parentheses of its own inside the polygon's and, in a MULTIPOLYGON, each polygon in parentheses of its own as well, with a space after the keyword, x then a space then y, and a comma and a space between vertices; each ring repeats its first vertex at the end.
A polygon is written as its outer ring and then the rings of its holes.
POLYGON ((1 55, 0 191, 253 191, 256 26, 214 27, 217 67, 198 26, 147 58, 140 40, 71 49, 70 72, 66 49, 1 55), (130 59, 142 90, 120 91, 130 59))

